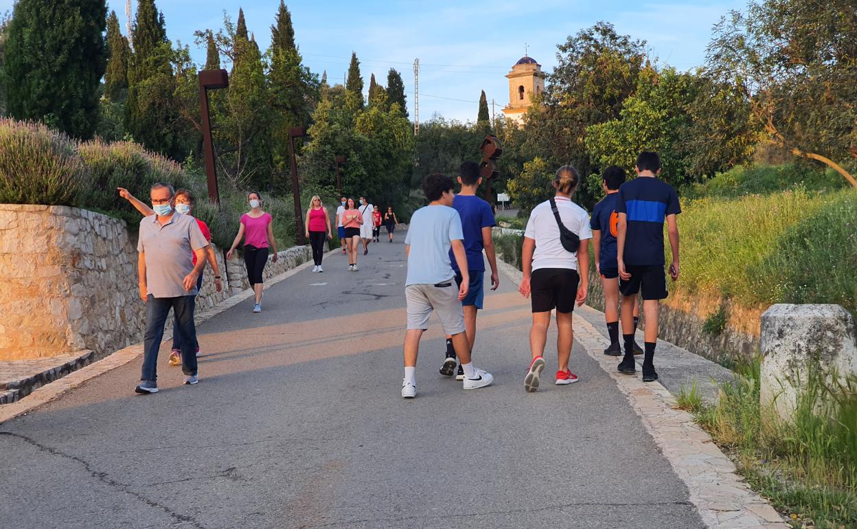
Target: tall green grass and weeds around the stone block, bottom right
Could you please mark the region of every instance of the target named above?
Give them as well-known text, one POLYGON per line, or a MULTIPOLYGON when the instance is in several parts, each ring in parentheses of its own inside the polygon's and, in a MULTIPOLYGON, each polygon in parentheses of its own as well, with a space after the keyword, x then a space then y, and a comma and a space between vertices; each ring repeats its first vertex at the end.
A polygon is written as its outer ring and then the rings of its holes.
POLYGON ((857 378, 825 382, 821 370, 813 371, 794 418, 785 421, 759 404, 758 358, 734 371, 716 405, 692 386, 682 388, 678 406, 794 527, 857 526, 857 378))

